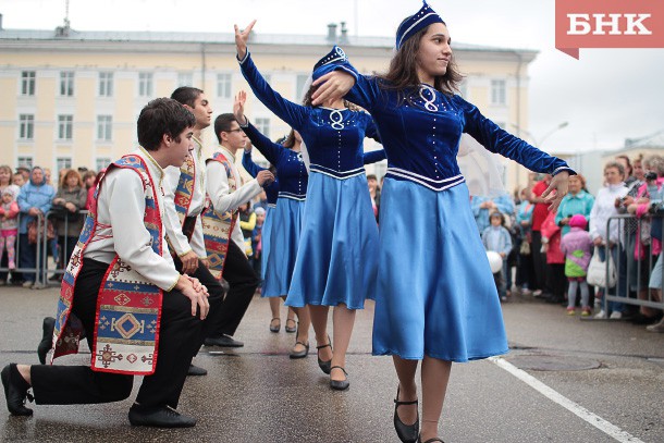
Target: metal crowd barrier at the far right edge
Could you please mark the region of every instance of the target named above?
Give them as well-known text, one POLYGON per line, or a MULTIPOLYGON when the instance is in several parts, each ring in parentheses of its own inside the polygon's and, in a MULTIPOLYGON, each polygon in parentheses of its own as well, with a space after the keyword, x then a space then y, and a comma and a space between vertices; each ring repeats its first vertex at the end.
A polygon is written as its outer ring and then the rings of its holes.
MULTIPOLYGON (((662 286, 657 287, 660 298, 655 297, 655 293, 649 287, 655 262, 657 259, 664 259, 661 250, 659 254, 652 254, 655 239, 650 237, 650 233, 653 225, 657 223, 659 227, 664 227, 664 216, 647 214, 636 218, 624 214, 611 217, 606 221, 607 233, 617 224, 619 242, 614 246, 617 248, 614 254, 617 259, 613 260, 616 284, 604 290, 602 300, 604 312, 608 313, 608 303, 611 302, 664 310, 662 286)), ((660 232, 662 231, 660 230, 660 232)), ((610 255, 607 250, 606 257, 610 255)), ((654 271, 662 272, 660 276, 664 276, 664 267, 654 271)), ((606 281, 610 281, 610 260, 606 260, 606 281)))

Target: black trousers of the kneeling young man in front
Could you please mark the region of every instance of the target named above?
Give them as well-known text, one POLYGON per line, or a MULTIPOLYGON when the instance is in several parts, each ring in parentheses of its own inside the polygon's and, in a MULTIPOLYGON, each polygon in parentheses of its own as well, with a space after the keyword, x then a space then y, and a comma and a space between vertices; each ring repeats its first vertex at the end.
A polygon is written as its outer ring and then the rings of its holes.
MULTIPOLYGON (((76 282, 72 313, 81 319, 90 349, 97 295, 107 263, 84 259, 76 282)), ((204 321, 192 316, 192 303, 179 291, 163 294, 159 357, 153 374, 143 379, 136 403, 143 408, 177 407, 204 321)), ((108 403, 132 393, 133 376, 93 371, 88 366, 35 365, 30 369, 35 402, 40 405, 108 403)))

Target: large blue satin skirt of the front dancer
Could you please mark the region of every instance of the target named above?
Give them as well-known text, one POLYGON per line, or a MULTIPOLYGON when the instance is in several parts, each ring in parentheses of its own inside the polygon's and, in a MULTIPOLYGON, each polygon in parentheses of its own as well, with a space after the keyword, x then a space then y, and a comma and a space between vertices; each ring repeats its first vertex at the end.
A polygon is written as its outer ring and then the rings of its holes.
POLYGON ((385 179, 373 355, 468 361, 508 350, 465 183, 434 192, 385 179))

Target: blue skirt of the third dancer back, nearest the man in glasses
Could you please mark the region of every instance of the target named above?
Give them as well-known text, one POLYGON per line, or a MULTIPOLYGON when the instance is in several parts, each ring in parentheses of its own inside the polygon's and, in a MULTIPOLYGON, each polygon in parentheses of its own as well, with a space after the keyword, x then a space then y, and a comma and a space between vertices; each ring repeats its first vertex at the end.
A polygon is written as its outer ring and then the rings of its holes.
POLYGON ((304 200, 283 197, 276 200, 276 208, 270 212, 272 232, 262 286, 263 297, 281 297, 288 293, 304 212, 304 200))

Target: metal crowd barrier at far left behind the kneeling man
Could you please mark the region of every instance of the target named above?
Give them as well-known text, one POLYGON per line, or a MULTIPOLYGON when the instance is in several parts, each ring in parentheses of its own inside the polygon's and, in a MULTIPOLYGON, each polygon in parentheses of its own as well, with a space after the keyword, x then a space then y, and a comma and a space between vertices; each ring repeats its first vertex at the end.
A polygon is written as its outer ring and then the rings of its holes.
MULTIPOLYGON (((86 210, 81 210, 78 211, 79 217, 85 218, 87 214, 86 210)), ((24 274, 24 273, 28 273, 35 274, 35 288, 41 288, 41 287, 47 287, 49 285, 49 274, 53 274, 53 275, 62 275, 64 274, 64 268, 66 267, 66 261, 69 260, 69 257, 65 257, 65 262, 62 263, 60 262, 60 256, 62 254, 60 254, 61 250, 69 250, 67 247, 70 246, 70 238, 66 235, 66 233, 69 232, 69 225, 70 225, 70 220, 69 218, 64 218, 63 220, 54 220, 54 213, 52 211, 47 212, 46 214, 39 214, 38 217, 33 217, 33 219, 35 221, 38 222, 38 235, 37 235, 37 243, 35 244, 35 267, 22 267, 21 266, 21 255, 22 254, 29 254, 26 253, 25 250, 21 250, 21 235, 22 234, 17 234, 16 235, 16 244, 14 246, 15 248, 15 268, 14 269, 9 269, 9 266, 2 267, 0 266, 0 272, 5 273, 5 272, 11 272, 12 273, 12 280, 14 279, 15 274, 24 274), (48 238, 48 223, 47 221, 51 221, 51 223, 53 223, 53 232, 54 232, 54 238, 48 238), (57 234, 57 227, 56 227, 56 223, 58 224, 62 224, 64 226, 64 241, 62 244, 58 243, 58 254, 56 254, 56 251, 53 251, 52 246, 52 242, 58 242, 59 237, 57 234), (54 261, 54 266, 49 266, 51 263, 49 263, 48 260, 48 256, 49 256, 49 251, 51 253, 51 255, 53 256, 53 261, 54 261)), ((24 213, 19 213, 16 221, 19 226, 21 226, 21 220, 24 217, 29 217, 26 216, 24 213)), ((78 236, 76 235, 76 238, 78 236)), ((4 253, 7 255, 7 251, 4 253)), ((52 282, 53 285, 60 285, 59 282, 52 282)))

